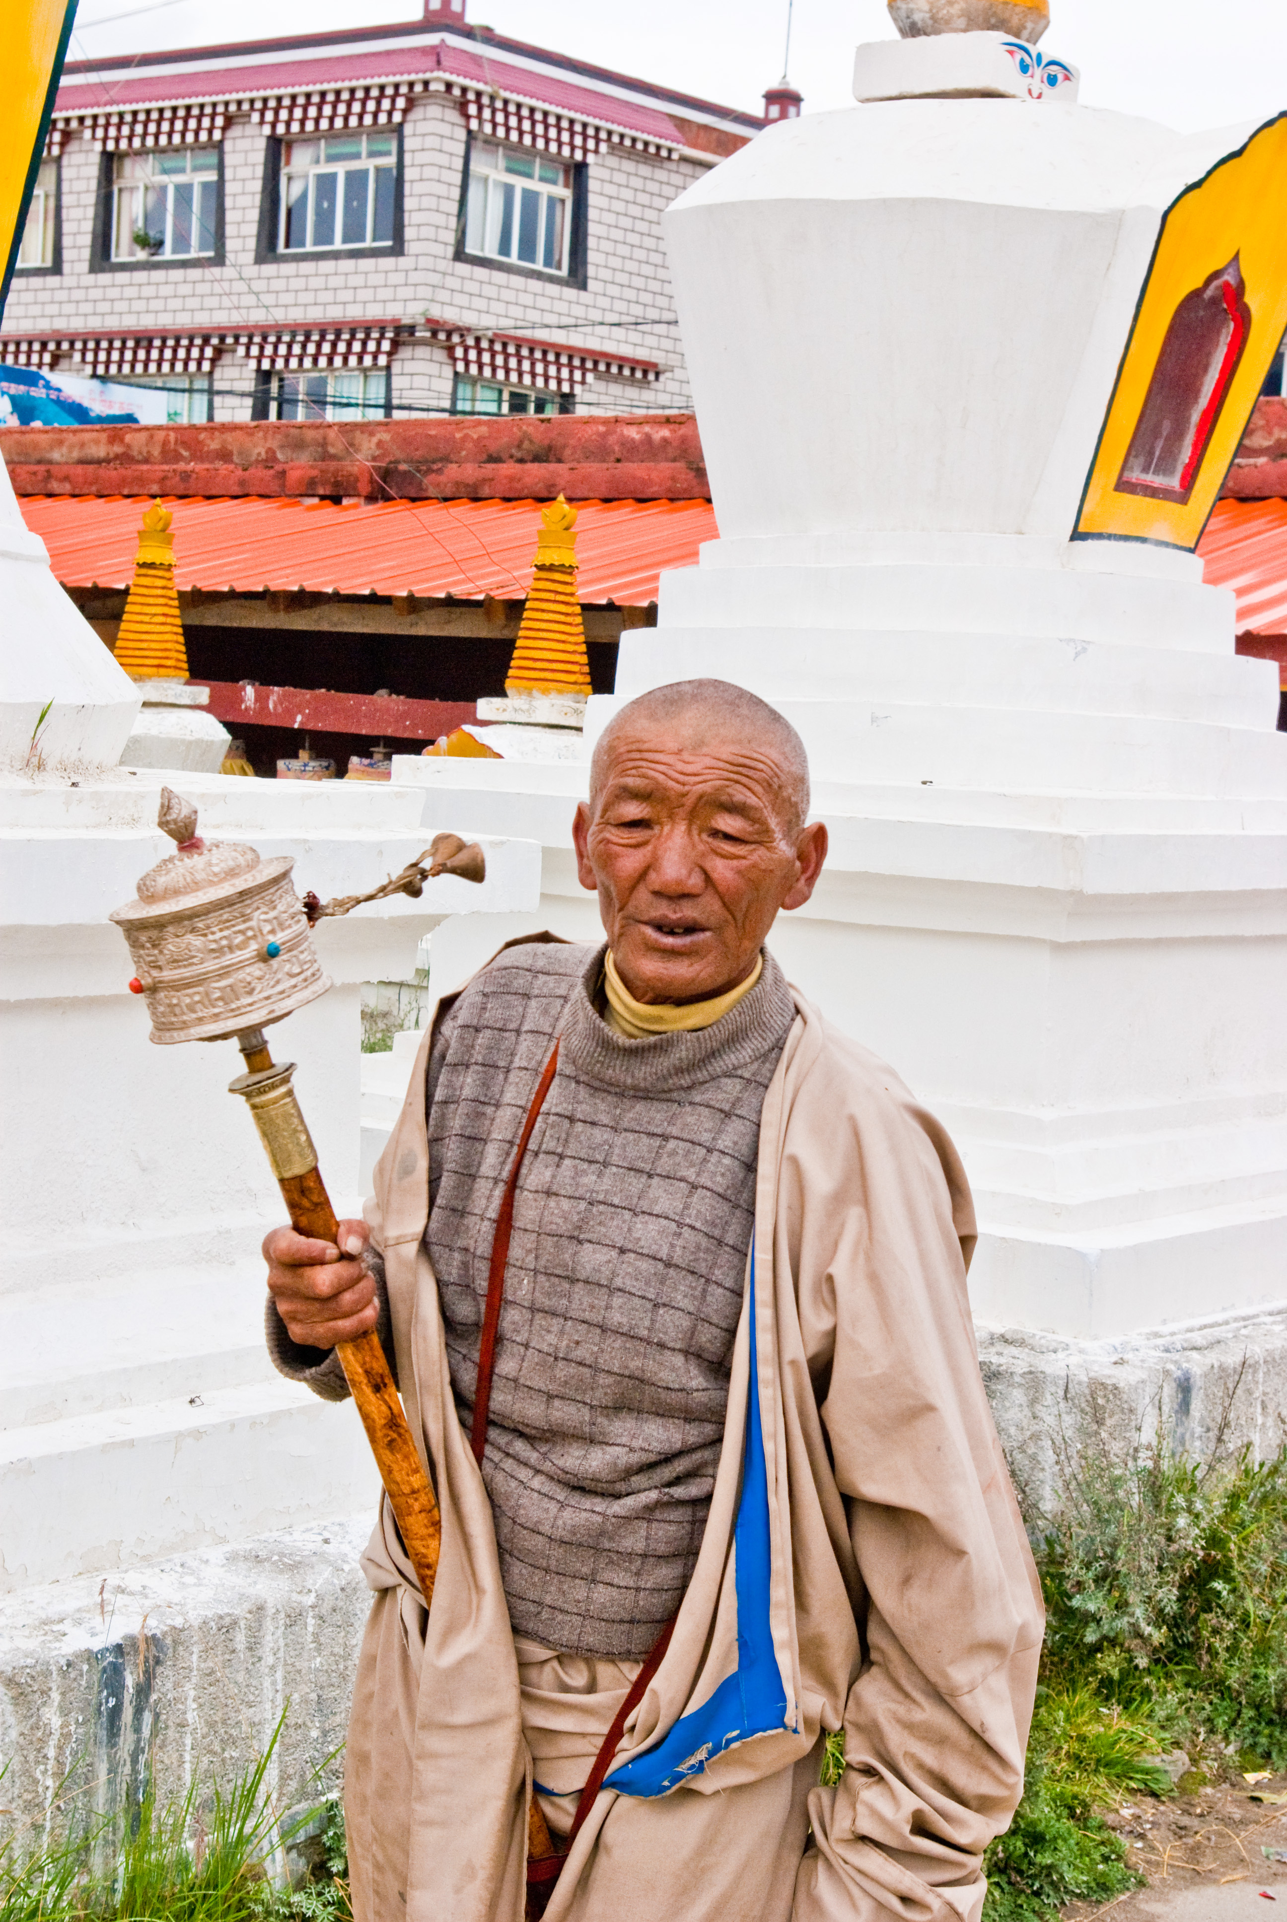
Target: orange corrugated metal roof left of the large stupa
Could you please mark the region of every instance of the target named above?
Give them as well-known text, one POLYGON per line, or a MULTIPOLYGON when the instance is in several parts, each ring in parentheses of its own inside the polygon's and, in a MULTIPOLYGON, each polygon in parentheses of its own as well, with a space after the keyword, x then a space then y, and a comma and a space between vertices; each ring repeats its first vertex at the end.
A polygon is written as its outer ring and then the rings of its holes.
MULTIPOLYGON (((146 498, 40 496, 19 502, 65 586, 125 588, 146 498)), ((527 594, 539 500, 417 500, 379 507, 298 500, 165 500, 179 588, 258 594, 421 594, 517 600, 527 594)), ((658 575, 693 567, 716 540, 708 500, 577 502, 577 594, 643 607, 658 575)))

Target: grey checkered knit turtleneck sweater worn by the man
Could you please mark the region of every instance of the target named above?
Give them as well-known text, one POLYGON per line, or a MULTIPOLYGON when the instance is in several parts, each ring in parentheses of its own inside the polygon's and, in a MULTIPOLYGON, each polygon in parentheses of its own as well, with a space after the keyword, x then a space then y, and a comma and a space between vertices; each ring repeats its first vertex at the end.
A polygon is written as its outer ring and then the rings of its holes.
MULTIPOLYGON (((641 1659, 706 1526, 760 1109, 795 1005, 766 955, 712 1028, 631 1042, 596 1011, 602 963, 602 948, 512 948, 441 1021, 425 1245, 467 1430, 500 1195, 558 1036, 516 1194, 483 1476, 514 1628, 641 1659)), ((335 1357, 310 1368, 317 1351, 277 1330, 283 1372, 335 1392, 335 1357)))

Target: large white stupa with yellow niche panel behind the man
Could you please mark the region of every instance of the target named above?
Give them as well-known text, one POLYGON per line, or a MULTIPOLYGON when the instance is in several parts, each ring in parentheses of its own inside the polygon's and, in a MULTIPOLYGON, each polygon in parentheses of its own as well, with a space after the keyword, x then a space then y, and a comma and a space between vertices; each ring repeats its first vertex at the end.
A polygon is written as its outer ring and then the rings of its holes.
MULTIPOLYGON (((1008 1440, 1097 1370, 1197 1436, 1249 1343, 1268 1436, 1287 738, 1193 546, 1287 325, 1287 121, 1077 106, 1058 50, 935 33, 973 4, 904 8, 920 37, 858 50, 856 106, 666 215, 719 540, 621 636, 587 746, 694 675, 798 727, 831 857, 773 948, 964 1151, 1008 1440)), ((583 771, 394 769, 442 825, 467 788, 541 832, 546 915, 585 936, 583 771)))

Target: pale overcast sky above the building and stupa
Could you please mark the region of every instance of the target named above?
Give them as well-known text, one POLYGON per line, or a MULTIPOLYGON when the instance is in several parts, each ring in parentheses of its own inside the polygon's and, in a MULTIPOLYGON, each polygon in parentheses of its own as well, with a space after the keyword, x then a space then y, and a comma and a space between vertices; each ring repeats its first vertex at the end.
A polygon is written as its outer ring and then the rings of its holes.
MULTIPOLYGON (((750 111, 783 67, 787 0, 467 4, 469 19, 496 33, 750 111)), ((1052 0, 1050 12, 1045 48, 1081 67, 1089 106, 1185 131, 1287 108, 1287 0, 1052 0)), ((81 0, 71 58, 419 15, 419 0, 167 0, 148 8, 81 0)), ((854 46, 891 35, 883 0, 795 0, 791 79, 806 111, 846 106, 854 46)))

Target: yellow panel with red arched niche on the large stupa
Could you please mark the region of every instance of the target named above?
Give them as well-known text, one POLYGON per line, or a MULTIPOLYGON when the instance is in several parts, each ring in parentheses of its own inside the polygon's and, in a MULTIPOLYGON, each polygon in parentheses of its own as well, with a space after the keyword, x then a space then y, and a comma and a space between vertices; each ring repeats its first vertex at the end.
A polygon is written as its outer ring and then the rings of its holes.
POLYGON ((1285 329, 1287 113, 1260 127, 1168 209, 1073 538, 1110 534, 1195 548, 1285 329), (1227 288, 1218 279, 1225 269, 1227 288), (1218 309, 1224 302, 1227 329, 1212 344, 1206 406, 1193 411, 1191 461, 1177 469, 1172 498, 1164 498, 1166 488, 1139 480, 1137 469, 1147 465, 1139 454, 1150 423, 1164 413, 1168 367, 1183 357, 1185 327, 1193 344, 1202 298, 1218 309))

